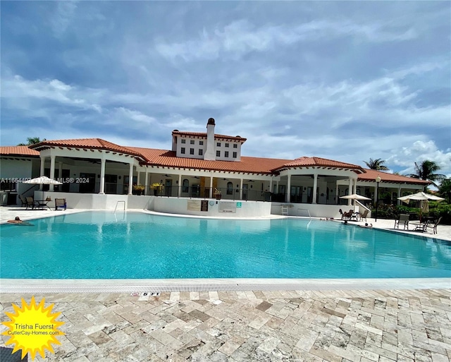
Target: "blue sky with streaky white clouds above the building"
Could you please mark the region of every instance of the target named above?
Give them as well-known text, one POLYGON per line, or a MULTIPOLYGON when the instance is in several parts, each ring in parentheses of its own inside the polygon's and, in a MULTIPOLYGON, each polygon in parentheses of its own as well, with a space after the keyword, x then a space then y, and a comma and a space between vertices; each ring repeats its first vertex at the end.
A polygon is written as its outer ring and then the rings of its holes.
POLYGON ((449 1, 1 1, 1 145, 171 131, 451 176, 449 1))

